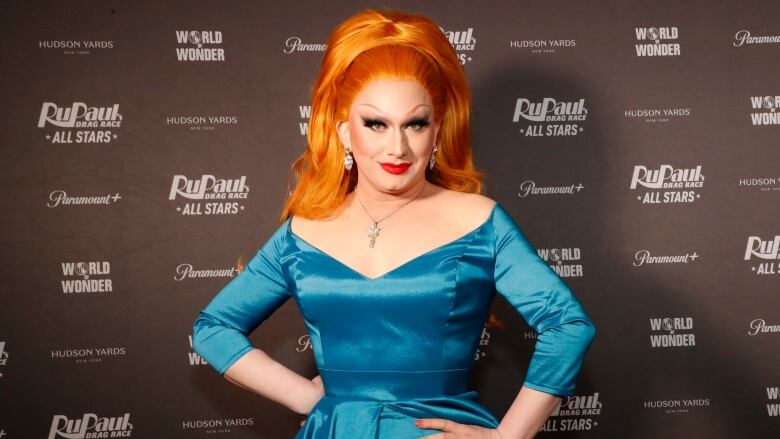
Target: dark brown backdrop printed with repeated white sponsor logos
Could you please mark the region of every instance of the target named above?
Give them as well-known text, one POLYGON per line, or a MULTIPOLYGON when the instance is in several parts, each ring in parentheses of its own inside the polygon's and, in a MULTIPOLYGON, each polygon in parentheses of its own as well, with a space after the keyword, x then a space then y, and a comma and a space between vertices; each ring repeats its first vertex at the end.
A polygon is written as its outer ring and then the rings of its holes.
MULTIPOLYGON (((2 438, 290 438, 192 324, 278 226, 333 27, 423 13, 486 195, 594 319, 550 438, 780 435, 780 3, 15 2, 2 27, 2 438), (557 109, 557 111, 552 111, 557 109)), ((250 337, 314 377, 288 301, 250 337)), ((500 296, 500 419, 535 334, 500 296)))

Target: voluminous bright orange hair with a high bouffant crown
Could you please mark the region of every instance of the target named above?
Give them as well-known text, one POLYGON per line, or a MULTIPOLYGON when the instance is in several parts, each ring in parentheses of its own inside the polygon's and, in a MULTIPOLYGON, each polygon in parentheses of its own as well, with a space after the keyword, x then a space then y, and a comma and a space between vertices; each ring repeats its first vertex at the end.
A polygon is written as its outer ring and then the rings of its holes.
POLYGON ((357 167, 344 167, 345 149, 336 123, 349 118, 352 100, 379 78, 417 81, 431 96, 441 121, 431 183, 468 193, 483 191, 484 173, 471 156, 471 92, 463 66, 442 30, 430 19, 369 9, 339 24, 328 38, 312 89, 308 146, 291 167, 290 190, 280 221, 290 215, 322 218, 342 204, 357 184, 357 167))

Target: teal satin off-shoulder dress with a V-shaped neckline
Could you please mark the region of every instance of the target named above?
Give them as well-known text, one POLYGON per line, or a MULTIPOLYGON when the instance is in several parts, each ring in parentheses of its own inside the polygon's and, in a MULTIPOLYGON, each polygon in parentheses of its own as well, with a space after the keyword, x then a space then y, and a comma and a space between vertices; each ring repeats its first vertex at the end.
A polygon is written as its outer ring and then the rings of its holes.
POLYGON ((247 335, 293 298, 325 389, 295 439, 441 432, 417 428, 418 418, 495 428, 467 387, 495 292, 538 334, 523 384, 573 395, 595 327, 500 204, 472 231, 376 278, 308 243, 287 219, 199 313, 193 346, 224 374, 252 349, 247 335))

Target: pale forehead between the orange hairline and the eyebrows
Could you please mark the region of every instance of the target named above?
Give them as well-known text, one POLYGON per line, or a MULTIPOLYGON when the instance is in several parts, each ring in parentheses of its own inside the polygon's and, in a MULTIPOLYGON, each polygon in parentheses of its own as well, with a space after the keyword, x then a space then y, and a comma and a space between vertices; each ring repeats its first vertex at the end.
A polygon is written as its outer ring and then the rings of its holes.
POLYGON ((420 104, 431 105, 431 96, 417 81, 376 79, 360 90, 352 106, 371 108, 365 104, 383 112, 406 112, 420 104))

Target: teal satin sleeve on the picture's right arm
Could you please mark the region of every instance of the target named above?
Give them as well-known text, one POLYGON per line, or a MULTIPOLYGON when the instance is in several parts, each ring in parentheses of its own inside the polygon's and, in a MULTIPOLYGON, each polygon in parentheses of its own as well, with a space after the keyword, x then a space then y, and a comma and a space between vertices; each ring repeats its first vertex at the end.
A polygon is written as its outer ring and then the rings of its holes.
POLYGON ((495 224, 496 291, 537 333, 524 386, 571 396, 596 328, 558 274, 501 206, 495 224))

